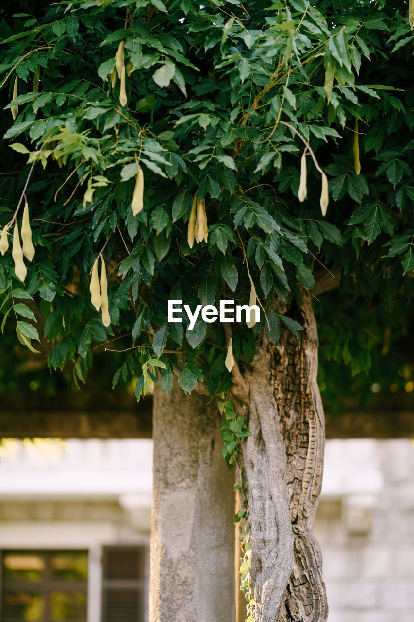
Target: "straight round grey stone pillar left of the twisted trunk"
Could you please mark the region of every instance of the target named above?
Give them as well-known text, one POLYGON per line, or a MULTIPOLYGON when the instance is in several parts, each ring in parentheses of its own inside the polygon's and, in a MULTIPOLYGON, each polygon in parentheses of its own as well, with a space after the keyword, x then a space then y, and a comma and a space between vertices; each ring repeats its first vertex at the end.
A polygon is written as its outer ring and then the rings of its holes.
POLYGON ((232 622, 234 473, 214 401, 174 381, 154 396, 149 622, 232 622))

